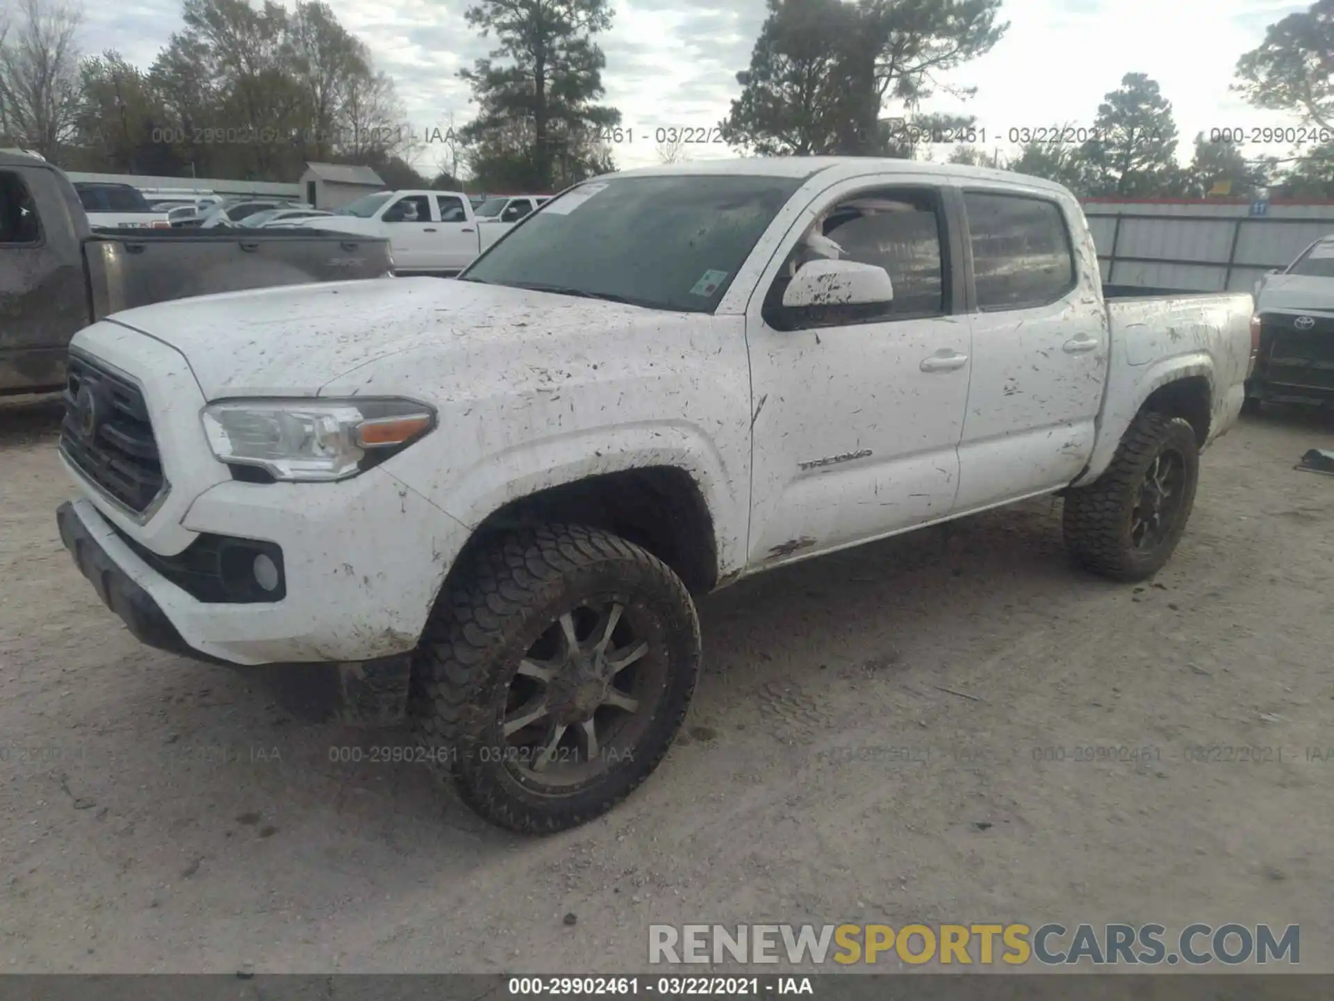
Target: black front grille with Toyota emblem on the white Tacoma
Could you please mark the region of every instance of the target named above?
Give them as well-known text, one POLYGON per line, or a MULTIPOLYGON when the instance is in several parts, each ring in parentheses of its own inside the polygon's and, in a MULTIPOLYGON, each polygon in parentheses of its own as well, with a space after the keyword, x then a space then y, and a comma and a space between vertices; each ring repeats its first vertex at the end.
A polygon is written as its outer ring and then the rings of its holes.
POLYGON ((71 352, 65 371, 60 451, 113 500, 143 514, 165 483, 144 394, 83 355, 71 352))

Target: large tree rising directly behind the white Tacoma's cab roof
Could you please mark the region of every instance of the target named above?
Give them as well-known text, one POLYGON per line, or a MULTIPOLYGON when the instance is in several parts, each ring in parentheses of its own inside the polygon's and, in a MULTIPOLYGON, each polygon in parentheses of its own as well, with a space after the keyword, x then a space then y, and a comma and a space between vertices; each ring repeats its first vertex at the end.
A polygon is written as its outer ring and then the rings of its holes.
POLYGON ((760 155, 895 153, 880 112, 904 119, 936 89, 936 76, 987 52, 1007 24, 1000 0, 768 0, 770 15, 736 75, 742 93, 723 137, 760 155))

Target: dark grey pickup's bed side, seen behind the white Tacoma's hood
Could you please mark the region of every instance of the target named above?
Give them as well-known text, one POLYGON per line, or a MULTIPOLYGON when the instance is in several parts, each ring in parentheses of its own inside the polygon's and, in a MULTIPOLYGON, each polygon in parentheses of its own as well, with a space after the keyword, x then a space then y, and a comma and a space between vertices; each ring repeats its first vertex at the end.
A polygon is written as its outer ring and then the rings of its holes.
POLYGON ((95 236, 84 256, 95 319, 169 299, 392 274, 388 240, 342 234, 163 230, 95 236))

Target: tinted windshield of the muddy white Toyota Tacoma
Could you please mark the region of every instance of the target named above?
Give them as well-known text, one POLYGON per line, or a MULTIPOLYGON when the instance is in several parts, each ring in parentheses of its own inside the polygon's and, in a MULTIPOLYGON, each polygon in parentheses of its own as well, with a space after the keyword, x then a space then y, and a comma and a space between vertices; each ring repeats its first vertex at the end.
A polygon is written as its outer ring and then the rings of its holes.
POLYGON ((460 275, 712 312, 803 178, 610 178, 548 202, 460 275))

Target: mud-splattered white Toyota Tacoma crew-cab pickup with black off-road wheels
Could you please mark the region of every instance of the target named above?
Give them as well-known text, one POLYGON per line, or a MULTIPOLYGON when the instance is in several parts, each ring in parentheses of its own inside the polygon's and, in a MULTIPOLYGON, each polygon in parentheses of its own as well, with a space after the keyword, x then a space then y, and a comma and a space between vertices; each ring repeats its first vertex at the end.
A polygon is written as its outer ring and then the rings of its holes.
POLYGON ((628 171, 459 280, 84 328, 65 545, 143 642, 403 713, 488 819, 596 817, 662 761, 694 597, 1039 494, 1078 563, 1167 561, 1237 420, 1249 295, 1103 302, 1078 202, 1002 171, 628 171))

